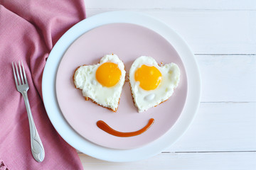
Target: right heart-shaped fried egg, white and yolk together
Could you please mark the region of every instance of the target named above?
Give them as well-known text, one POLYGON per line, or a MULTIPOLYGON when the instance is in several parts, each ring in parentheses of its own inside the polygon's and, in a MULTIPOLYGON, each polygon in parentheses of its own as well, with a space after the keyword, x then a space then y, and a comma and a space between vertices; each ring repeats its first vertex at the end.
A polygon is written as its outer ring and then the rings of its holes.
POLYGON ((152 57, 137 58, 129 69, 129 83, 139 113, 167 101, 179 79, 180 69, 176 64, 159 66, 152 57))

